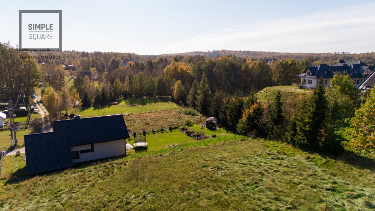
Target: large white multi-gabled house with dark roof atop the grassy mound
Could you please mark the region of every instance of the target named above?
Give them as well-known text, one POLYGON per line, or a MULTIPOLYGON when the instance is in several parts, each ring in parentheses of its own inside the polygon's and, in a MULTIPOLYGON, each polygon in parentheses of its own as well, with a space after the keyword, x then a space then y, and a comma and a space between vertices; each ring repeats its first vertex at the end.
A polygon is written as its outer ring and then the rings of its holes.
POLYGON ((357 87, 374 69, 374 66, 366 65, 361 61, 340 59, 333 65, 320 64, 315 67, 308 67, 298 76, 301 78, 300 85, 303 88, 312 89, 317 87, 319 78, 323 78, 324 86, 330 87, 330 80, 335 72, 347 73, 351 75, 353 84, 357 87))

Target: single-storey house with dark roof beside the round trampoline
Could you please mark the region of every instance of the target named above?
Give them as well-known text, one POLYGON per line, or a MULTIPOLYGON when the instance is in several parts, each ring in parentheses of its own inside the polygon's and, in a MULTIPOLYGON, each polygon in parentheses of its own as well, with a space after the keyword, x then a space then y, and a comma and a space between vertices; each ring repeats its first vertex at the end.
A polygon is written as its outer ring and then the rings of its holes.
POLYGON ((27 174, 126 154, 129 133, 122 115, 54 121, 52 132, 24 135, 27 174))

